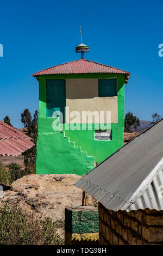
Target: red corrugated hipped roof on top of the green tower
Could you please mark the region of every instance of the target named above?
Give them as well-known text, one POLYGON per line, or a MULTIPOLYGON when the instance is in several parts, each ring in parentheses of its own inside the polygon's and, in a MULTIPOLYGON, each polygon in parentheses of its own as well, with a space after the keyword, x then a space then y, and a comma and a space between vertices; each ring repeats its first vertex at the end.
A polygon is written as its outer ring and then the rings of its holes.
POLYGON ((126 76, 126 82, 130 76, 130 72, 122 69, 117 69, 112 66, 104 65, 91 60, 79 59, 73 62, 67 62, 52 68, 44 69, 34 73, 32 76, 38 77, 40 75, 53 75, 53 74, 89 74, 89 73, 114 73, 124 74, 126 76))

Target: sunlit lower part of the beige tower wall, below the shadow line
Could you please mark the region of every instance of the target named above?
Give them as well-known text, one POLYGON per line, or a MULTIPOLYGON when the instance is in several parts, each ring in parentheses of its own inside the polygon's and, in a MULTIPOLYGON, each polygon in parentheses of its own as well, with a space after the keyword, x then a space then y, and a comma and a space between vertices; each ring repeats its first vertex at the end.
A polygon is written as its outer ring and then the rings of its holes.
MULTIPOLYGON (((118 123, 118 99, 114 97, 94 97, 92 99, 67 99, 66 107, 69 107, 69 115, 72 111, 78 111, 80 117, 74 123, 82 123, 82 111, 111 111, 111 123, 118 123)), ((76 116, 74 116, 76 117, 76 116)), ((67 123, 71 123, 74 117, 71 117, 67 123)), ((66 111, 66 120, 68 120, 68 112, 66 111)), ((96 120, 93 123, 98 123, 96 120)), ((85 122, 84 122, 85 123, 85 122)), ((86 123, 91 123, 86 121, 86 123)), ((103 122, 102 122, 103 123, 103 122)), ((106 123, 106 114, 104 118, 106 123)))

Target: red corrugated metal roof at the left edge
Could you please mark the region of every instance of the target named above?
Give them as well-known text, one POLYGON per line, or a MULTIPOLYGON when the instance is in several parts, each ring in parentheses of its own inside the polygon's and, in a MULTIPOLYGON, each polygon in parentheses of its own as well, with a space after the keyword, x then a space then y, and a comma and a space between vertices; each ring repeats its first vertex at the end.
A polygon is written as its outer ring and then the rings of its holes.
POLYGON ((32 138, 0 120, 0 155, 21 155, 34 145, 32 138))

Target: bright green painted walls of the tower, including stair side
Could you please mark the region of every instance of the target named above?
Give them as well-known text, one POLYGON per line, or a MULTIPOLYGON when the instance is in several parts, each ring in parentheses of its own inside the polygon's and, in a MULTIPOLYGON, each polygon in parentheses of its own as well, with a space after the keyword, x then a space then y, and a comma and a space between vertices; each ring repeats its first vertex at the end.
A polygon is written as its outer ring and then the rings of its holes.
MULTIPOLYGON (((94 126, 93 126, 94 127, 94 126)), ((62 127, 64 131, 64 126, 62 127)), ((124 132, 124 75, 122 74, 66 74, 39 77, 39 124, 37 138, 36 173, 74 173, 83 175, 93 168, 93 161, 101 163, 123 146, 124 132), (112 141, 96 141, 94 129, 86 131, 54 131, 53 118, 46 118, 46 80, 66 78, 117 77, 118 124, 111 124, 112 141), (69 138, 64 137, 67 136, 69 138), (70 143, 70 142, 74 143, 70 143), (80 147, 76 148, 74 147, 80 147), (73 147, 72 147, 73 146, 73 147), (86 151, 86 153, 81 153, 86 151), (85 154, 85 156, 83 155, 85 154)))

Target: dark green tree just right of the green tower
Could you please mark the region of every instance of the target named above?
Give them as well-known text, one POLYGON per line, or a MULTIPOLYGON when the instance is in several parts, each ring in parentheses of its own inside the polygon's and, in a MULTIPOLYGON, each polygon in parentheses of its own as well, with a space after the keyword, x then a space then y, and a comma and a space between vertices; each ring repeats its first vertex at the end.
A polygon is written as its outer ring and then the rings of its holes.
POLYGON ((137 131, 137 127, 140 126, 140 120, 133 113, 128 112, 124 118, 124 127, 128 132, 132 132, 131 128, 137 131))

